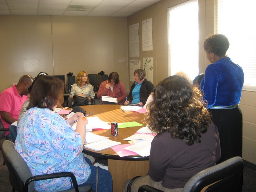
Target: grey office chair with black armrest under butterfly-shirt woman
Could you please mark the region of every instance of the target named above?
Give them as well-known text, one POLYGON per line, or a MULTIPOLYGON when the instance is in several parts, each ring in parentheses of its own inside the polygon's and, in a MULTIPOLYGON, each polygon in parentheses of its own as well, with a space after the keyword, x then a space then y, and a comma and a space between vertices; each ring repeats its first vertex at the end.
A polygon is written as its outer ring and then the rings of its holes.
POLYGON ((74 188, 64 190, 63 192, 88 192, 91 190, 91 186, 83 186, 78 187, 76 178, 71 172, 62 172, 62 173, 52 173, 52 174, 44 174, 38 176, 32 176, 29 167, 26 162, 20 156, 20 154, 15 150, 14 143, 9 140, 5 140, 3 142, 2 153, 6 165, 9 170, 9 179, 12 185, 12 192, 37 192, 34 189, 34 182, 39 180, 46 180, 50 178, 59 178, 59 177, 71 177, 72 184, 74 188), (30 184, 30 185, 29 185, 30 184))

